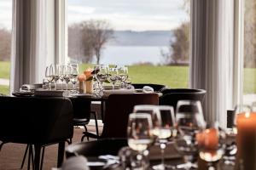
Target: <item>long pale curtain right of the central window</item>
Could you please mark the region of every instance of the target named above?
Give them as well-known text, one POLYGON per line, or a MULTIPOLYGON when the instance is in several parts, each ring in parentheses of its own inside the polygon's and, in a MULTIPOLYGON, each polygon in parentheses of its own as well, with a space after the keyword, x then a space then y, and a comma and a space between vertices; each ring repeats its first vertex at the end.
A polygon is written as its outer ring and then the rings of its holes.
POLYGON ((190 87, 207 90, 207 122, 233 107, 234 0, 191 1, 190 87))

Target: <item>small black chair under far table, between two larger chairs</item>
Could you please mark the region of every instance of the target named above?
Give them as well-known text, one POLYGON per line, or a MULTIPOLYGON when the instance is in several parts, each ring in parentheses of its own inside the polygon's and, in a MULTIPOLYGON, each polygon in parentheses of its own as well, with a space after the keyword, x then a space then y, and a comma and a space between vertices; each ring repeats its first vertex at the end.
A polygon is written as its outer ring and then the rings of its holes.
MULTIPOLYGON (((73 126, 83 126, 85 132, 88 132, 86 125, 90 122, 90 116, 93 115, 96 123, 96 135, 99 135, 96 111, 90 111, 90 99, 83 97, 70 98, 73 104, 73 126)), ((84 135, 81 138, 84 139, 84 135)), ((89 140, 89 137, 87 137, 89 140)), ((71 140, 72 142, 72 140, 71 140)))

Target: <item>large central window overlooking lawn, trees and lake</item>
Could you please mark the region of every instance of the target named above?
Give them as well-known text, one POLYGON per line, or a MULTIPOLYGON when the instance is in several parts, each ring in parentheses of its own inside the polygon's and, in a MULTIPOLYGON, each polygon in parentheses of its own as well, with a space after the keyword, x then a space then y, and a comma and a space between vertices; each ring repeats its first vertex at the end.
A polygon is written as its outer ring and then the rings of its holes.
POLYGON ((131 82, 189 86, 188 0, 68 0, 68 57, 129 65, 131 82))

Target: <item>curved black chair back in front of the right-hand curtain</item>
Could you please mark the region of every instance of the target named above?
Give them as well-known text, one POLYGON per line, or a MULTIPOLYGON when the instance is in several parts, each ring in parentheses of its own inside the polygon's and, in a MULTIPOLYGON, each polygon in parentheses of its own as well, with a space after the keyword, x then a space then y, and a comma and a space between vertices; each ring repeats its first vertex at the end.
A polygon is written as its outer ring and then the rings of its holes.
POLYGON ((160 91, 160 105, 172 105, 176 110, 177 101, 181 99, 200 100, 203 104, 207 91, 193 88, 163 88, 160 91))

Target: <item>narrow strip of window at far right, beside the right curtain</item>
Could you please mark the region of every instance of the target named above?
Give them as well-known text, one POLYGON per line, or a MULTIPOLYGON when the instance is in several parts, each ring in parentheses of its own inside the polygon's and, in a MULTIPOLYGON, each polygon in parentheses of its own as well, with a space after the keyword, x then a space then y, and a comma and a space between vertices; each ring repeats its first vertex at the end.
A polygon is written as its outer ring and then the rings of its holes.
POLYGON ((244 18, 243 103, 256 101, 256 1, 246 0, 244 18))

